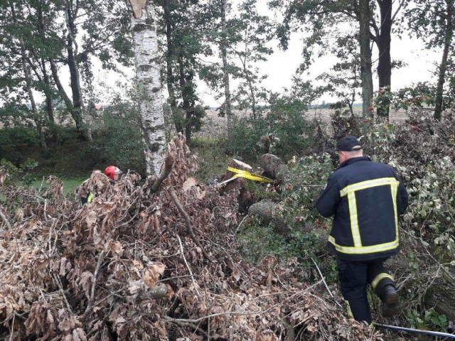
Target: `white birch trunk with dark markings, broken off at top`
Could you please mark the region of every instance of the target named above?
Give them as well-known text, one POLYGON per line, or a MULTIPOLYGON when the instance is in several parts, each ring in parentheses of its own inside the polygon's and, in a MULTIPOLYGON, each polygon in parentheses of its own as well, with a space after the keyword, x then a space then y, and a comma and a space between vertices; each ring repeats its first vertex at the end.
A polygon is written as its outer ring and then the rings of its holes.
POLYGON ((146 173, 158 176, 163 163, 162 153, 166 139, 155 11, 151 1, 129 0, 129 2, 133 9, 132 30, 146 173))

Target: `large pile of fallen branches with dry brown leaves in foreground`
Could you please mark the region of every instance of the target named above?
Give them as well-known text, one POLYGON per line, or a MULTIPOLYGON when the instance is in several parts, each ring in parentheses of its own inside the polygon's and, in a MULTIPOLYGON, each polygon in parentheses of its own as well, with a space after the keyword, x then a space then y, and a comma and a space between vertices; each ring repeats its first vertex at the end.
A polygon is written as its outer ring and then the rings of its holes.
POLYGON ((197 183, 185 139, 139 186, 102 174, 92 203, 2 173, 0 337, 8 340, 381 340, 300 283, 295 260, 237 256, 237 195, 197 183))

